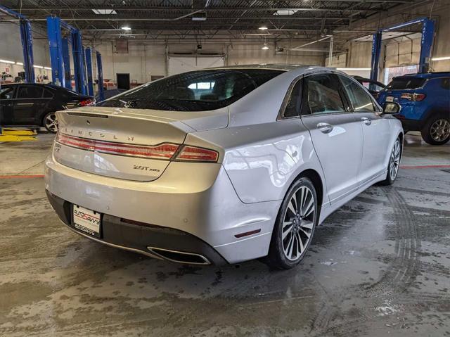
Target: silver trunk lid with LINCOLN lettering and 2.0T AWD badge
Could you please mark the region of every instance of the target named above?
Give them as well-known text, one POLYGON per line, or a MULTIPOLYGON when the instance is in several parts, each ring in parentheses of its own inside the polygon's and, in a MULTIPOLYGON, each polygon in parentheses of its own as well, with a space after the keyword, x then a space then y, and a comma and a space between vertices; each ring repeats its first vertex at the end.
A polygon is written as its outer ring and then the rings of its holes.
POLYGON ((53 155, 75 170, 152 181, 170 163, 186 134, 226 127, 228 110, 187 113, 84 107, 57 113, 53 155))

